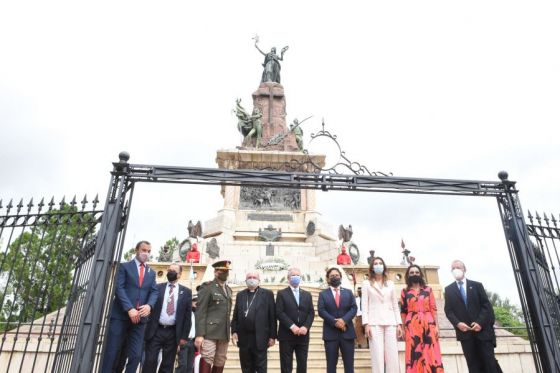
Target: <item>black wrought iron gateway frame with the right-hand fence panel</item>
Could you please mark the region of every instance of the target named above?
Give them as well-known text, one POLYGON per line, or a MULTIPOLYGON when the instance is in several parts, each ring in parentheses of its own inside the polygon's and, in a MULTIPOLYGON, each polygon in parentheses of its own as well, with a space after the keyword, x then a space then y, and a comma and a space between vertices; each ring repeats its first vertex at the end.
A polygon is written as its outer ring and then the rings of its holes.
MULTIPOLYGON (((499 174, 500 181, 420 179, 364 174, 362 169, 350 175, 293 172, 291 164, 285 170, 277 171, 137 165, 129 164, 129 156, 124 152, 119 158, 120 161, 113 164, 96 239, 92 241, 93 237, 88 236, 80 241, 83 256, 76 262, 72 295, 59 337, 53 372, 89 373, 98 370, 109 311, 107 304, 112 298, 116 265, 122 253, 132 191, 138 182, 496 198, 528 324, 535 366, 543 373, 560 372, 560 312, 555 267, 555 263, 560 265, 556 247, 558 228, 556 221, 552 221, 554 227, 548 222, 542 226, 540 221, 535 225, 532 217, 531 224, 525 224, 515 183, 508 180, 505 172, 499 174), (95 250, 92 250, 93 247, 95 250)), ((4 255, 2 261, 6 258, 4 255)))

